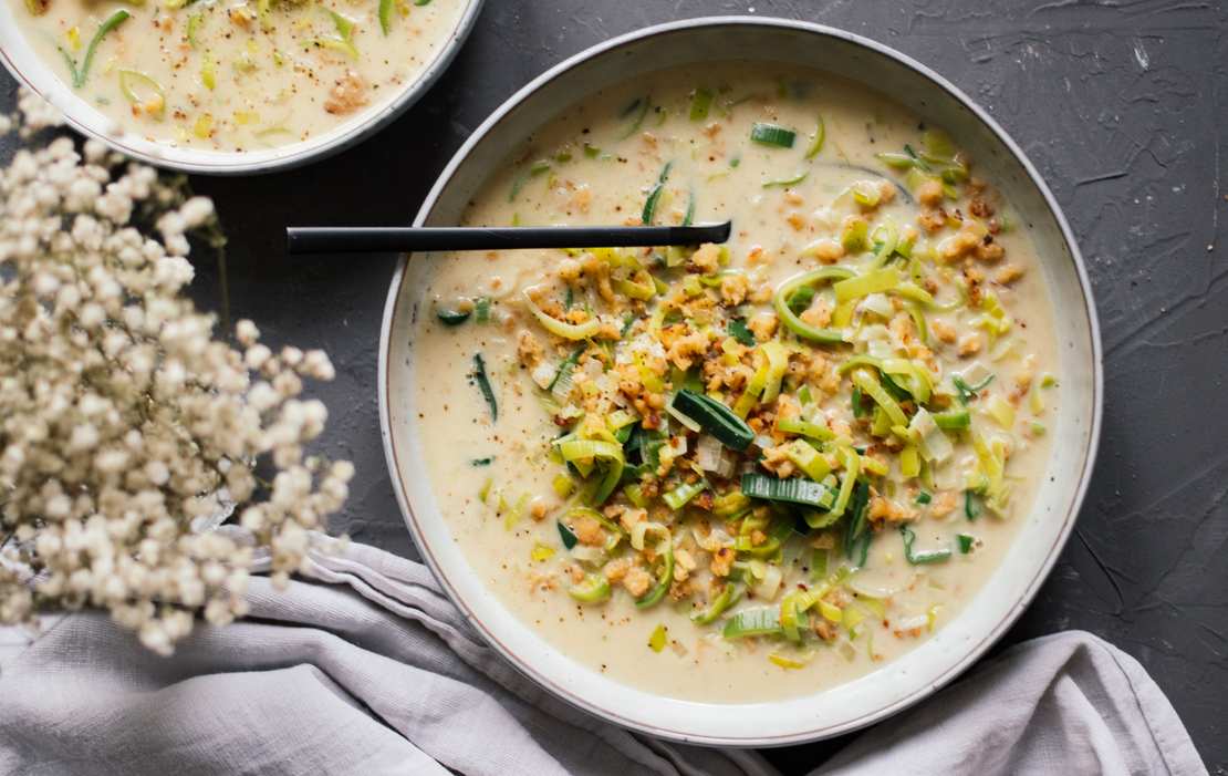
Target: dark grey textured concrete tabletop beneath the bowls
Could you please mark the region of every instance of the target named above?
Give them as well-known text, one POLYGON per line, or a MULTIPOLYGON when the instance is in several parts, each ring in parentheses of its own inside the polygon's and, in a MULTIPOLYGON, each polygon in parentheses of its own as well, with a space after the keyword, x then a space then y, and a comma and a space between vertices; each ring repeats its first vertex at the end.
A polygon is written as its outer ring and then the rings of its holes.
MULTIPOLYGON (((323 346, 328 448, 359 468, 334 528, 416 556, 393 499, 375 402, 391 258, 289 259, 287 223, 408 222, 496 106, 561 59, 689 16, 786 16, 876 38, 935 68, 1019 141, 1078 236, 1105 346, 1100 459, 1076 534, 1000 645, 1066 629, 1135 656, 1228 774, 1228 4, 1214 0, 489 0, 436 87, 377 138, 306 169, 196 179, 231 236, 236 317, 323 346)), ((14 102, 0 74, 0 109, 14 102)), ((195 293, 216 307, 217 274, 195 293)), ((890 724, 885 722, 884 724, 890 724)), ((842 740, 769 751, 813 766, 842 740)))

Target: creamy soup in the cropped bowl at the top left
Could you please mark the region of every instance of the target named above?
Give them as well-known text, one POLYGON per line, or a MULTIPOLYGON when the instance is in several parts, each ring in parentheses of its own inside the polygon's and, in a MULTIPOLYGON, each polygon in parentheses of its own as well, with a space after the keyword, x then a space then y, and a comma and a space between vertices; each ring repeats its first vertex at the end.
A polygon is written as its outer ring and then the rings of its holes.
POLYGON ((327 133, 394 99, 462 0, 9 0, 31 44, 125 133, 215 151, 327 133))

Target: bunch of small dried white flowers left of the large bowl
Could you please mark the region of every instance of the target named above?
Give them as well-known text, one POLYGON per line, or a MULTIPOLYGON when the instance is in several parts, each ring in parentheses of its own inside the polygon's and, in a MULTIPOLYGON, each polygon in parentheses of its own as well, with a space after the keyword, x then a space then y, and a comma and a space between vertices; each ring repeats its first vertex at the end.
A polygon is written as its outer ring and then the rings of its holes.
MULTIPOLYGON (((54 120, 20 107, 23 135, 54 120)), ((98 607, 169 653, 195 613, 246 613, 257 548, 285 584, 345 501, 354 467, 303 449, 328 413, 298 397, 328 357, 274 352, 248 320, 235 349, 183 295, 187 236, 214 223, 210 200, 93 141, 0 172, 0 623, 98 607), (251 541, 194 530, 235 505, 251 541)))

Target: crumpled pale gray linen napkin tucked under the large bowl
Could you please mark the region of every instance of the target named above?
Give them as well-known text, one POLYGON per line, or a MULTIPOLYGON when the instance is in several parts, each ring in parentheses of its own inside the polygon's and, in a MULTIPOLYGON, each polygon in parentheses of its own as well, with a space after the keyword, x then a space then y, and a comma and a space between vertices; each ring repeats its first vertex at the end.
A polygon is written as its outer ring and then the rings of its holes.
MULTIPOLYGON (((106 616, 0 637, 0 774, 750 774, 753 751, 634 735, 539 690, 413 561, 313 551, 171 659, 106 616), (7 641, 7 646, 5 646, 7 641)), ((1206 774, 1142 667, 1088 634, 1007 652, 815 775, 1206 774)))

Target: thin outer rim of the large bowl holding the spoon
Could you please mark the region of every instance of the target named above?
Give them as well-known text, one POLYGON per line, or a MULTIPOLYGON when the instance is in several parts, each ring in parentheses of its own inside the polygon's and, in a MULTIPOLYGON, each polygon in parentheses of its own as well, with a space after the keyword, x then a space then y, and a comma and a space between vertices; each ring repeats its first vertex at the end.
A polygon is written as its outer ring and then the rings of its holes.
MULTIPOLYGON (((1028 582, 1024 588, 1023 596, 1002 615, 1002 619, 993 625, 989 631, 986 631, 980 641, 974 643, 966 651, 964 651, 963 657, 952 664, 941 675, 933 678, 932 680, 925 683, 922 686, 917 688, 910 695, 906 695, 894 702, 890 702, 873 712, 867 712, 860 717, 846 720, 836 724, 830 726, 818 726, 813 729, 785 733, 780 735, 748 735, 748 737, 729 737, 729 735, 709 735, 709 734, 696 734, 689 731, 677 731, 663 728, 657 724, 650 724, 641 722, 639 720, 613 712, 607 708, 602 708, 591 700, 582 697, 577 693, 573 693, 570 688, 556 683, 550 677, 543 675, 538 672, 529 661, 522 658, 511 651, 511 648, 505 645, 500 638, 489 630, 481 620, 479 620, 475 614, 465 605, 462 598, 457 594, 454 586, 448 580, 448 576, 443 572, 443 568, 436 560, 431 551, 429 543, 424 540, 422 533, 418 527, 418 518, 414 514, 413 505, 409 501, 406 489, 400 479, 400 468, 398 465, 398 453, 395 444, 393 442, 392 433, 392 417, 391 417, 391 387, 389 381, 389 362, 391 362, 391 346, 392 346, 392 329, 395 318, 397 302, 402 293, 402 286, 405 280, 405 271, 408 265, 408 255, 402 255, 398 259, 397 269, 393 273, 392 280, 389 282, 388 297, 384 303, 383 322, 381 324, 379 334, 379 363, 377 374, 377 389, 378 389, 378 409, 379 409, 379 433, 383 441, 384 457, 388 464, 389 479, 392 480, 393 490, 395 491, 397 502, 402 510, 402 517, 405 521, 410 534, 414 538, 414 543, 421 553, 426 564, 431 568, 435 578, 438 581, 440 586, 447 593, 448 599, 460 610, 464 619, 479 632, 483 638, 492 646, 503 658, 506 658, 521 674, 528 677, 535 685, 545 689, 555 697, 567 702, 569 705, 583 710, 598 718, 613 722, 625 728, 637 731, 641 733, 647 733, 650 735, 657 735, 661 738, 677 740, 688 744, 699 745, 711 745, 711 747, 736 747, 736 748, 763 748, 763 747, 786 747, 793 744, 802 744, 813 740, 819 740, 824 738, 831 738, 844 733, 850 733, 852 731, 861 729, 876 722, 879 722, 889 716, 893 716, 905 708, 925 700, 933 693, 938 691, 943 686, 950 684, 957 678, 959 678, 968 668, 970 668, 976 661, 979 661, 997 641, 1006 634, 1007 630, 1019 619, 1024 609, 1032 603, 1039 592, 1041 584, 1049 577, 1052 571, 1057 557, 1061 555, 1070 534, 1074 528, 1074 523, 1078 518, 1079 510, 1083 505, 1084 497, 1087 495, 1087 489, 1090 483, 1092 470, 1095 464, 1097 454, 1099 451, 1100 442, 1100 427, 1103 421, 1104 410, 1104 370, 1103 370, 1103 345, 1100 341, 1100 325, 1097 314, 1095 301, 1092 293, 1092 284, 1087 274, 1087 268, 1083 260, 1083 255, 1079 252, 1078 243, 1074 239, 1073 232, 1070 223, 1062 212, 1052 192, 1045 184, 1040 173, 1033 166, 1032 161, 1023 152, 1023 150, 1011 139, 1005 129, 977 103, 975 103, 968 95, 959 90, 954 83, 948 81, 946 77, 921 64, 920 61, 912 59, 911 56, 895 50, 894 48, 879 43, 877 41, 858 36, 856 33, 847 32, 845 29, 830 27, 826 25, 819 25, 814 22, 780 18, 780 17, 766 17, 766 16, 739 16, 739 15, 721 15, 721 16, 704 16, 686 20, 678 20, 672 22, 666 22, 661 25, 652 25, 640 29, 634 29, 631 32, 616 36, 602 43, 594 44, 567 59, 560 61, 559 64, 549 68, 542 75, 537 76, 523 87, 517 90, 511 97, 508 97, 502 104, 496 108, 490 117, 486 118, 462 144, 453 157, 449 160, 448 165, 440 173, 438 179, 431 188, 430 193, 422 200, 422 205, 414 219, 414 226, 422 226, 426 219, 430 216, 431 211, 435 209, 440 196, 443 190, 451 184, 452 178, 456 176, 457 169, 464 163, 469 157, 473 149, 485 139, 485 136, 497 126, 507 114, 513 109, 519 107, 526 99, 528 99, 539 88, 553 81, 559 75, 564 74, 577 65, 600 56, 607 52, 620 48, 641 38, 647 38, 657 36, 661 33, 684 31, 691 28, 701 27, 722 27, 722 26, 748 26, 748 27, 764 27, 764 28, 788 28, 795 31, 809 32, 820 36, 828 36, 833 38, 839 38, 847 43, 855 45, 861 45, 869 49, 871 52, 887 56, 895 63, 903 65, 904 68, 911 69, 920 74, 935 86, 947 92, 949 97, 960 103, 966 108, 975 118, 979 120, 995 139, 1005 146, 1013 158, 1020 165, 1028 179, 1032 182, 1057 225, 1059 232, 1061 235, 1062 242, 1065 243, 1067 250, 1070 252, 1070 258, 1073 263, 1073 269, 1079 284, 1079 291, 1083 298, 1083 312, 1087 317, 1088 334, 1090 338, 1090 351, 1092 351, 1092 417, 1088 426, 1088 438, 1086 449, 1082 453, 1082 467, 1078 471, 1078 479, 1068 506, 1065 510, 1065 516, 1062 518, 1061 529, 1057 533, 1054 543, 1049 548, 1049 551, 1036 568, 1035 575, 1028 582)), ((534 634, 534 637, 542 640, 542 637, 534 634)), ((544 640, 542 640, 544 641, 544 640)))

